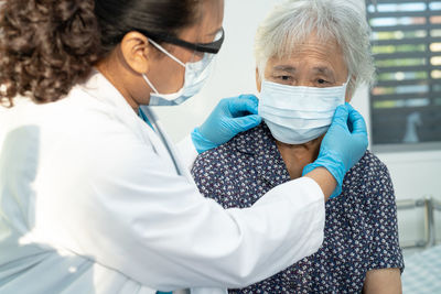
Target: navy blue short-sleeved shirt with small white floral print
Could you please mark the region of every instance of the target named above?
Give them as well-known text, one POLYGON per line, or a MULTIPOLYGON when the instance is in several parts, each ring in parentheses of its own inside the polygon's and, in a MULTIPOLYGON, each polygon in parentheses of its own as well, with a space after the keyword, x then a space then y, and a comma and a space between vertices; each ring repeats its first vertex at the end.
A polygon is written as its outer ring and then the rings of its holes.
MULTIPOLYGON (((204 196, 224 208, 249 207, 290 181, 265 123, 200 154, 192 174, 204 196)), ((342 194, 325 208, 324 241, 316 253, 229 293, 361 293, 367 271, 402 271, 394 188, 387 167, 374 154, 366 152, 348 171, 342 194)))

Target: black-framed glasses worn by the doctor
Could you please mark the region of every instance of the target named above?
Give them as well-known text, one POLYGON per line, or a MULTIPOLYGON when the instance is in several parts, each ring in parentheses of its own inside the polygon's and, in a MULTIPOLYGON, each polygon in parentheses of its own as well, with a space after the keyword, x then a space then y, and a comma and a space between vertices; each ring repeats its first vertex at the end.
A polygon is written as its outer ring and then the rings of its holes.
POLYGON ((136 31, 140 32, 141 34, 146 35, 147 37, 152 39, 153 41, 161 41, 161 42, 170 43, 170 44, 178 45, 178 46, 181 46, 184 48, 194 50, 197 52, 213 53, 213 54, 217 54, 219 52, 222 44, 224 43, 224 37, 225 37, 224 29, 222 29, 219 31, 220 36, 217 37, 217 40, 215 40, 212 43, 190 43, 184 40, 173 37, 171 35, 155 34, 155 33, 150 33, 150 32, 143 31, 143 30, 136 30, 136 31))

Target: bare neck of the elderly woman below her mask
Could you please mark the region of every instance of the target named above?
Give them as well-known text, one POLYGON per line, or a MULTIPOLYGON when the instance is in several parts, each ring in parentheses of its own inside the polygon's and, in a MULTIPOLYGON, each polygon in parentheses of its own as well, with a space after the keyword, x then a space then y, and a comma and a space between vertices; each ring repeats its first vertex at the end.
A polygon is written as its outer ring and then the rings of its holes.
POLYGON ((304 144, 297 145, 276 141, 280 155, 292 179, 301 177, 303 167, 316 160, 322 139, 323 137, 320 137, 304 144))

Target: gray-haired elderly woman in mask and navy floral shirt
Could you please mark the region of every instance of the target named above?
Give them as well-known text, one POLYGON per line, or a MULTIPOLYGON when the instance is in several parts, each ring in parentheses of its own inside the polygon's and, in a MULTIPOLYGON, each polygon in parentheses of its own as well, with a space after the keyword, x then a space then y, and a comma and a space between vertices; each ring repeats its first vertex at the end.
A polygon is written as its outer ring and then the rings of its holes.
MULTIPOLYGON (((347 0, 276 7, 256 36, 265 123, 200 155, 192 172, 201 192, 225 208, 243 208, 308 171, 335 108, 372 81, 368 31, 347 0)), ((326 203, 319 252, 230 293, 400 293, 404 261, 387 167, 366 152, 343 183, 326 203)))

